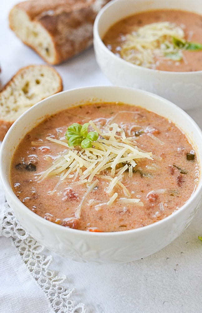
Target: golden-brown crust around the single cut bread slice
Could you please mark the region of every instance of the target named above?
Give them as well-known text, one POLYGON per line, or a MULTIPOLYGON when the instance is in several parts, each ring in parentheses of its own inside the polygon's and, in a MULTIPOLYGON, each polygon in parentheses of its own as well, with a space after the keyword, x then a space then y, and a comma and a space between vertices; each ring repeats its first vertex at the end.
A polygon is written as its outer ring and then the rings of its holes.
MULTIPOLYGON (((54 92, 54 93, 51 93, 51 95, 55 94, 55 93, 58 93, 60 91, 63 90, 63 83, 62 83, 62 79, 60 77, 60 75, 57 73, 57 71, 49 66, 49 65, 28 65, 26 67, 23 67, 21 69, 19 69, 17 71, 17 73, 7 82, 6 85, 3 86, 2 90, 0 91, 0 97, 1 95, 7 90, 7 88, 9 88, 10 86, 12 86, 14 84, 14 81, 17 77, 19 77, 24 71, 29 71, 31 70, 32 68, 34 67, 43 67, 43 68, 48 68, 48 69, 51 69, 53 71, 53 73, 57 76, 58 78, 58 88, 57 90, 54 92)), ((43 100, 44 98, 46 97, 43 97, 41 95, 41 100, 43 100)), ((6 121, 4 119, 1 118, 0 116, 0 141, 3 140, 4 136, 6 135, 8 129, 11 127, 11 125, 14 123, 15 119, 12 119, 11 121, 6 121)))

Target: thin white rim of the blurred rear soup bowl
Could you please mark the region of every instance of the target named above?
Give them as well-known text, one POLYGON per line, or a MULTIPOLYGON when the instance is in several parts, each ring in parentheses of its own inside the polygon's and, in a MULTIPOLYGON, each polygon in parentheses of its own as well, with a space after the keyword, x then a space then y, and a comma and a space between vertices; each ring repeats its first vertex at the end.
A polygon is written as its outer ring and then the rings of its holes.
MULTIPOLYGON (((183 74, 186 74, 186 75, 196 75, 196 74, 202 74, 202 70, 199 70, 199 71, 187 71, 187 72, 181 72, 181 71, 163 71, 163 70, 160 70, 160 69, 150 69, 150 68, 146 68, 146 67, 143 67, 143 66, 139 66, 139 65, 136 65, 136 64, 133 64, 129 61, 126 61, 124 59, 122 59, 121 57, 118 57, 116 54, 114 54, 112 51, 110 51, 106 46, 105 44, 103 43, 101 37, 100 37, 100 34, 99 34, 99 22, 100 22, 100 19, 102 18, 104 12, 106 10, 108 10, 109 7, 111 6, 114 6, 116 5, 116 3, 118 2, 122 2, 123 0, 111 0, 110 2, 108 2, 107 4, 105 4, 105 6, 99 11, 99 13, 97 14, 96 18, 95 18, 95 21, 94 21, 94 26, 93 26, 93 37, 94 37, 94 46, 95 46, 95 42, 97 41, 98 44, 102 47, 102 49, 104 50, 105 53, 107 53, 111 58, 114 58, 117 62, 120 62, 120 64, 123 64, 123 66, 127 66, 131 69, 138 69, 138 70, 142 70, 143 72, 145 72, 146 74, 147 73, 161 73, 161 74, 164 74, 164 75, 167 75, 167 76, 170 76, 170 75, 183 75, 183 74)), ((125 0, 124 0, 125 1, 125 0)), ((130 0, 128 0, 130 1, 130 0)), ((146 10, 145 10, 146 11, 146 10)), ((144 12, 144 11, 139 11, 139 12, 144 12)), ((189 11, 188 11, 189 12, 189 11)), ((130 16, 132 14, 129 14, 128 16, 130 16)), ((120 21, 121 19, 118 19, 116 22, 120 21)), ((115 22, 115 23, 116 23, 115 22)), ((114 24, 115 24, 114 23, 114 24)), ((111 26, 110 26, 111 27, 111 26)), ((109 29, 109 28, 108 28, 109 29)), ((106 32, 105 32, 106 33, 106 32)))

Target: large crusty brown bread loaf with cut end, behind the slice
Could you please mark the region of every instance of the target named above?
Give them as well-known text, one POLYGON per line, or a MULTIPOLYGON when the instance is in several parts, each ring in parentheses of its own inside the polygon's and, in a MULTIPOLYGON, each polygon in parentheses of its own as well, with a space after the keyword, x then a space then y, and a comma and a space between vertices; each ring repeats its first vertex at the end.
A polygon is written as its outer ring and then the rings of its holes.
POLYGON ((109 1, 25 1, 10 11, 10 28, 47 63, 59 64, 93 43, 95 17, 109 1))

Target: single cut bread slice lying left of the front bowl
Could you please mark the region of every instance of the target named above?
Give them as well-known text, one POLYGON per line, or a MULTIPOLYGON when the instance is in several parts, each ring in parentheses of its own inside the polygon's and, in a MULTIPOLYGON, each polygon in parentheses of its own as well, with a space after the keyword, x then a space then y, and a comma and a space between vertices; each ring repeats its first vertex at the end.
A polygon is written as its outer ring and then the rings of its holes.
POLYGON ((62 89, 61 77, 51 66, 30 65, 20 69, 0 92, 0 140, 28 108, 62 89))

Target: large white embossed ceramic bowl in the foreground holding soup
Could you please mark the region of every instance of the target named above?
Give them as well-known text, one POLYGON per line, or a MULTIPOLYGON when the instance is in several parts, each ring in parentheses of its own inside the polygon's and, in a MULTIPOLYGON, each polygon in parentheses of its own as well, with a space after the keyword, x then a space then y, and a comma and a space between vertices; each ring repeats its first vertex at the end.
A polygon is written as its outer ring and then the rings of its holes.
POLYGON ((9 129, 0 153, 3 189, 22 226, 42 245, 79 262, 121 263, 144 258, 162 249, 190 224, 201 202, 202 178, 195 193, 178 211, 151 225, 121 232, 93 233, 65 228, 36 215, 14 194, 10 166, 17 143, 45 116, 86 101, 121 101, 140 105, 173 121, 190 138, 202 164, 202 132, 178 106, 157 95, 128 87, 98 86, 63 91, 27 110, 9 129))

